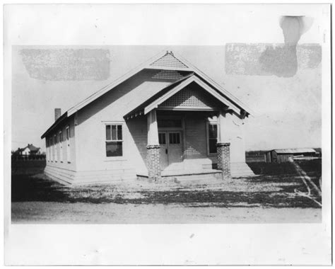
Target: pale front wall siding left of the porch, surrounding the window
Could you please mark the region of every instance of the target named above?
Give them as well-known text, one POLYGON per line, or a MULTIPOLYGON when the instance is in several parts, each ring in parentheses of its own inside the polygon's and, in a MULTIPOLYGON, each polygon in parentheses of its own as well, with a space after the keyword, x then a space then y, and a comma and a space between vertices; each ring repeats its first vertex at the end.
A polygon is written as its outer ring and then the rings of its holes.
POLYGON ((112 89, 98 100, 78 111, 78 171, 136 168, 146 171, 147 120, 140 116, 125 122, 123 116, 133 110, 141 99, 146 100, 171 81, 149 79, 157 71, 146 72, 136 79, 112 89), (152 73, 152 74, 151 74, 152 73), (122 124, 123 156, 107 157, 105 124, 122 124))

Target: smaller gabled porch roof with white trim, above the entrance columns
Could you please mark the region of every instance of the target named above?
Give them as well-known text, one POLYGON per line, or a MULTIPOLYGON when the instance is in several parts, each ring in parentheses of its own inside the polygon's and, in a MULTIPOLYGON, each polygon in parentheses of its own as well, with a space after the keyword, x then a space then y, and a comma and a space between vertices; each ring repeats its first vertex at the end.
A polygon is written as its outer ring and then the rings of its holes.
POLYGON ((189 84, 192 83, 199 85, 201 88, 204 89, 204 91, 216 98, 216 100, 223 104, 225 109, 233 110, 238 115, 242 115, 243 113, 245 115, 249 114, 247 113, 247 111, 243 110, 235 103, 230 101, 229 98, 227 98, 221 91, 213 87, 211 84, 209 84, 208 81, 204 81, 204 79, 201 79, 199 75, 192 72, 188 76, 185 76, 184 78, 175 81, 167 87, 161 89, 160 91, 158 91, 158 93, 155 93, 155 95, 151 96, 151 98, 148 98, 146 101, 139 103, 136 108, 124 115, 124 119, 128 120, 129 118, 134 118, 138 115, 146 115, 151 110, 158 108, 158 105, 164 103, 165 101, 167 101, 167 99, 174 96, 175 93, 178 93, 183 88, 187 87, 189 84))

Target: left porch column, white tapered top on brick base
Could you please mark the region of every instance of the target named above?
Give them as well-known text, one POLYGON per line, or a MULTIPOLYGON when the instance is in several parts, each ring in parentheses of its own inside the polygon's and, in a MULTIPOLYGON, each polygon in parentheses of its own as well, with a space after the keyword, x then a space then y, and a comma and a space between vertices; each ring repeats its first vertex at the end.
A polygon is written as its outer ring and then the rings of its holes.
POLYGON ((148 151, 146 159, 148 178, 152 181, 157 181, 161 178, 161 168, 157 115, 155 110, 151 110, 148 113, 148 145, 146 149, 148 151))

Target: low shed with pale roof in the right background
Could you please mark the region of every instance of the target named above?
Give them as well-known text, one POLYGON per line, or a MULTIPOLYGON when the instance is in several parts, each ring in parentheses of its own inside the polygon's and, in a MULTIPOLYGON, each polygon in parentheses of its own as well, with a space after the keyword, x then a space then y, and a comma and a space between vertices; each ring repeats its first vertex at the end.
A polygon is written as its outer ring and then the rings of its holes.
POLYGON ((312 148, 308 149, 272 149, 264 154, 266 163, 284 163, 289 159, 317 159, 319 154, 312 148))

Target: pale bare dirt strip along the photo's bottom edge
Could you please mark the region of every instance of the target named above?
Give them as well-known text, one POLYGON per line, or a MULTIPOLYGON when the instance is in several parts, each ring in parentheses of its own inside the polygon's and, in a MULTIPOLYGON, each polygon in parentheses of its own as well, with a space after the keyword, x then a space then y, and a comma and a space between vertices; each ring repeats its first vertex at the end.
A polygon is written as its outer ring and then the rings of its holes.
POLYGON ((315 223, 319 208, 193 207, 192 204, 90 204, 85 202, 14 202, 18 224, 208 224, 315 223))

